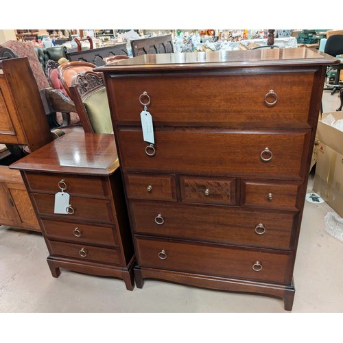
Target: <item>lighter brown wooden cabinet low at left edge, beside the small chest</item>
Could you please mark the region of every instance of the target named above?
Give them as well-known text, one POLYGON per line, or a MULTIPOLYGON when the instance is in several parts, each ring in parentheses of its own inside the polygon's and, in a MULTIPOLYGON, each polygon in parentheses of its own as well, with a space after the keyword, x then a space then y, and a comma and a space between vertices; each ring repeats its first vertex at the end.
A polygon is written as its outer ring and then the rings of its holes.
POLYGON ((0 223, 40 231, 38 220, 18 170, 0 166, 0 223))

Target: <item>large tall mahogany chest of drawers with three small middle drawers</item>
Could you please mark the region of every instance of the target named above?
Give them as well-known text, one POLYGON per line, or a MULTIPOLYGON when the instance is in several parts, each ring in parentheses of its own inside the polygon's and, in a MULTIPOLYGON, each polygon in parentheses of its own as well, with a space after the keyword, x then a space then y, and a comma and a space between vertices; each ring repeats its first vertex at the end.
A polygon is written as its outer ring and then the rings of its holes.
MULTIPOLYGON (((327 65, 307 48, 138 56, 105 75, 143 279, 268 294, 293 270, 327 65), (143 141, 147 106, 154 142, 143 141)), ((115 154, 115 152, 113 152, 115 154)))

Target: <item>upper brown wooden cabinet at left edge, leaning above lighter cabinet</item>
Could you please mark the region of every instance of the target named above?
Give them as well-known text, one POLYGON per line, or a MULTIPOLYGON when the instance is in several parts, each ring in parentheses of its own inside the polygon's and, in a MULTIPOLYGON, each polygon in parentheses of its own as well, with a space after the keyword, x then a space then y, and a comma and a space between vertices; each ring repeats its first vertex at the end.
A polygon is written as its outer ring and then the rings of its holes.
POLYGON ((1 61, 0 142, 27 145, 29 152, 53 137, 27 58, 1 61))

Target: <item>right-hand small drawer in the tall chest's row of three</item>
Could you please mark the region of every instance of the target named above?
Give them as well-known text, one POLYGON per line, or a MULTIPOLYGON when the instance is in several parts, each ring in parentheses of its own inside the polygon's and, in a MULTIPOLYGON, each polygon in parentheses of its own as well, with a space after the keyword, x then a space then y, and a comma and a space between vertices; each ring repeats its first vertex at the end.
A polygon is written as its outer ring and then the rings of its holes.
POLYGON ((241 180, 241 206, 296 211, 303 182, 241 180))

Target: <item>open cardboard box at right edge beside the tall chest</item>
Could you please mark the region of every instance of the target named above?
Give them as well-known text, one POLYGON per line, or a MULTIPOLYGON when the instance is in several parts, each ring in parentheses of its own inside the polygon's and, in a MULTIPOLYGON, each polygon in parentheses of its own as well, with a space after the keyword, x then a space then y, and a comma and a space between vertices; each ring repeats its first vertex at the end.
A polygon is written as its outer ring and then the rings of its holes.
MULTIPOLYGON (((322 120, 330 113, 323 113, 322 120)), ((331 113, 335 120, 343 119, 342 112, 331 113)), ((318 122, 320 141, 314 191, 343 217, 343 132, 318 122)))

